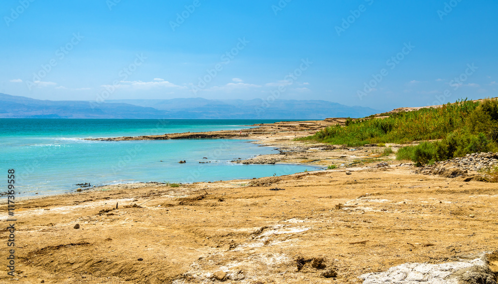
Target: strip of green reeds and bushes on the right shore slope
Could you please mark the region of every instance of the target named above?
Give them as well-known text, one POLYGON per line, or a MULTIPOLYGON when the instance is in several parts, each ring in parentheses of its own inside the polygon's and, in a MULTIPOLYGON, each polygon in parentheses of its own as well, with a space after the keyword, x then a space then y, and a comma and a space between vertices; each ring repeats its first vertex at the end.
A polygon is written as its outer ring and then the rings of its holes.
POLYGON ((434 163, 476 152, 498 151, 498 100, 459 100, 437 108, 385 113, 386 116, 348 119, 297 141, 344 144, 373 143, 418 145, 399 149, 398 160, 417 165, 434 163))

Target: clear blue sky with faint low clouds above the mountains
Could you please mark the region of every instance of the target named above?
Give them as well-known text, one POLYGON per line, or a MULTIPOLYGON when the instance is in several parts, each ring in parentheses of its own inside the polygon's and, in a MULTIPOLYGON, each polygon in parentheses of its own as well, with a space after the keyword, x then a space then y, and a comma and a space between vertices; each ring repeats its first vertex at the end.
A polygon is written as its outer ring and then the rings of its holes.
POLYGON ((494 97, 497 10, 493 0, 2 0, 0 93, 380 110, 494 97))

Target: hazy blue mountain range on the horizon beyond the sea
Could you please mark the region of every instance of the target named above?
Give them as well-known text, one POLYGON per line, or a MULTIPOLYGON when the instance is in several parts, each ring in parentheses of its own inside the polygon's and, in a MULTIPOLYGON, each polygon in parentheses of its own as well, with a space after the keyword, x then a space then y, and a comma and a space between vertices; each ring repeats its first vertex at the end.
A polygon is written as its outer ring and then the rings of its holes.
POLYGON ((122 99, 40 100, 0 93, 0 118, 324 119, 380 111, 325 100, 122 99))

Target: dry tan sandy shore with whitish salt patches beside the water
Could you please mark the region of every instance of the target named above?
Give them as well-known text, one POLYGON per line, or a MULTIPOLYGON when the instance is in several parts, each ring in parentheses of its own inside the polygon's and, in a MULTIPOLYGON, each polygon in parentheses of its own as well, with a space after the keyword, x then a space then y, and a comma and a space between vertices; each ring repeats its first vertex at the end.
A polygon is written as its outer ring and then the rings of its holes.
MULTIPOLYGON (((17 275, 12 279, 4 272, 0 279, 362 283, 361 275, 405 263, 470 261, 495 250, 496 186, 472 179, 476 173, 455 178, 417 174, 410 162, 382 156, 376 145, 353 149, 292 141, 344 122, 279 122, 254 125, 242 134, 103 138, 253 139, 280 153, 234 162, 338 168, 179 187, 106 186, 18 201, 17 275)), ((396 151, 401 145, 388 146, 396 151)), ((7 211, 5 202, 0 210, 7 211)), ((1 238, 6 242, 5 232, 1 238)), ((496 254, 483 259, 492 273, 498 272, 496 254)))

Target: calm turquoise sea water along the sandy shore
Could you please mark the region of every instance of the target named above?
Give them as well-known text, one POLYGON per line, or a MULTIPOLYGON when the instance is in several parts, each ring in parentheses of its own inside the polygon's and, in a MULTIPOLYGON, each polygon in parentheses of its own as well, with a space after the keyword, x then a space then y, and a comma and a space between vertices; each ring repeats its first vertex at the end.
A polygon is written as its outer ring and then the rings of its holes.
MULTIPOLYGON (((0 119, 0 173, 15 170, 21 196, 132 182, 192 183, 286 175, 316 168, 240 165, 276 153, 249 140, 87 141, 81 138, 233 130, 279 120, 0 119), (206 157, 207 159, 203 159, 206 157), (178 161, 186 160, 186 164, 178 161), (199 162, 208 162, 200 164, 199 162), (210 162, 210 163, 209 163, 210 162)), ((6 191, 6 184, 0 183, 6 191)))

